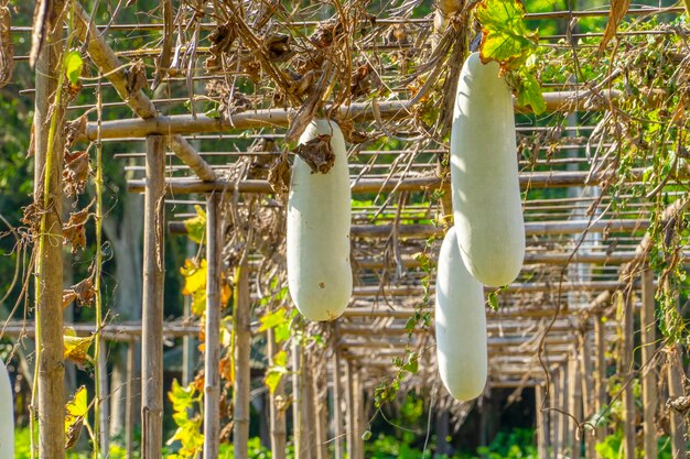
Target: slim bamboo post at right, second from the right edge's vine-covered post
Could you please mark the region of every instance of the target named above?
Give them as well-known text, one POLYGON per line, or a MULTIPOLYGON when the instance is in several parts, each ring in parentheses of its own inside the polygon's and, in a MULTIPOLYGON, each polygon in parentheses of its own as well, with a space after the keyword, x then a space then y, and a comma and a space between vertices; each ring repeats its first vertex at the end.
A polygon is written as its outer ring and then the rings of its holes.
MULTIPOLYGON (((633 338, 635 321, 632 293, 621 292, 618 294, 618 309, 622 314, 622 346, 621 346, 621 369, 622 374, 633 374, 633 338)), ((635 395, 633 393, 633 382, 625 381, 623 387, 623 449, 625 459, 635 459, 635 395)))

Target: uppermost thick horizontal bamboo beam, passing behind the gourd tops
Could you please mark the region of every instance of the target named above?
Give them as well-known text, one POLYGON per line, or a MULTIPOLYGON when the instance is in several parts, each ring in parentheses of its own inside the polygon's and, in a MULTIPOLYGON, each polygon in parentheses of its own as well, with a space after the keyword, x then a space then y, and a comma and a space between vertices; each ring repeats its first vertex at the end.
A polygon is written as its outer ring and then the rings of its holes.
MULTIPOLYGON (((612 100, 622 96, 621 91, 606 90, 594 96, 587 90, 545 92, 547 111, 557 110, 600 110, 612 100)), ((518 107, 517 112, 529 112, 529 108, 518 107)), ((409 117, 412 105, 409 100, 384 101, 378 103, 381 119, 399 119, 409 117)), ((338 108, 341 119, 366 121, 374 119, 370 102, 352 103, 338 108)), ((150 134, 201 134, 208 132, 229 132, 260 128, 287 128, 297 116, 298 109, 260 109, 231 114, 229 118, 194 117, 192 114, 158 116, 147 119, 115 120, 101 123, 101 139, 145 138, 150 134)), ((86 124, 83 133, 85 140, 95 140, 98 127, 94 122, 86 124)))

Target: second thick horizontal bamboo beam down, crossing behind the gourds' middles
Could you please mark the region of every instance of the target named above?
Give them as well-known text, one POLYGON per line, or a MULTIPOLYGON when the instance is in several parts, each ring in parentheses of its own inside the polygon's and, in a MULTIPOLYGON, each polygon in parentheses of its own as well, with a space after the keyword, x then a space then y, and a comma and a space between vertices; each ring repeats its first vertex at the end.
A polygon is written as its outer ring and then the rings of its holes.
MULTIPOLYGON (((525 172, 520 173, 519 181, 522 189, 537 188, 562 188, 569 186, 594 186, 600 185, 603 181, 613 176, 611 173, 599 174, 585 183, 589 172, 586 171, 549 171, 549 172, 525 172)), ((643 178, 642 170, 633 170, 630 179, 633 182, 643 178)), ((450 190, 450 184, 441 183, 441 178, 435 175, 423 175, 406 178, 362 178, 355 181, 351 185, 353 193, 390 193, 397 192, 422 192, 428 189, 438 189, 440 186, 450 190)), ((130 193, 143 193, 144 181, 134 179, 127 183, 130 193)), ((247 181, 229 181, 225 178, 213 182, 201 182, 194 178, 170 178, 165 183, 165 189, 169 194, 182 195, 190 193, 256 193, 256 194, 273 194, 273 189, 268 181, 247 179, 247 181)))

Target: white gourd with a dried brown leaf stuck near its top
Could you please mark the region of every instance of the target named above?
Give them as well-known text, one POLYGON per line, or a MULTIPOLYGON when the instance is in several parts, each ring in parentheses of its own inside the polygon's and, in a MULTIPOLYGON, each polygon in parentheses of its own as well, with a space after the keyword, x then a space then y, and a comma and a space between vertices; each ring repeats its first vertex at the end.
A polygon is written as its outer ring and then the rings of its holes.
POLYGON ((335 122, 314 120, 300 143, 331 135, 335 164, 313 173, 294 160, 288 199, 288 286, 298 309, 310 320, 341 316, 353 292, 349 265, 351 192, 347 152, 335 122))

